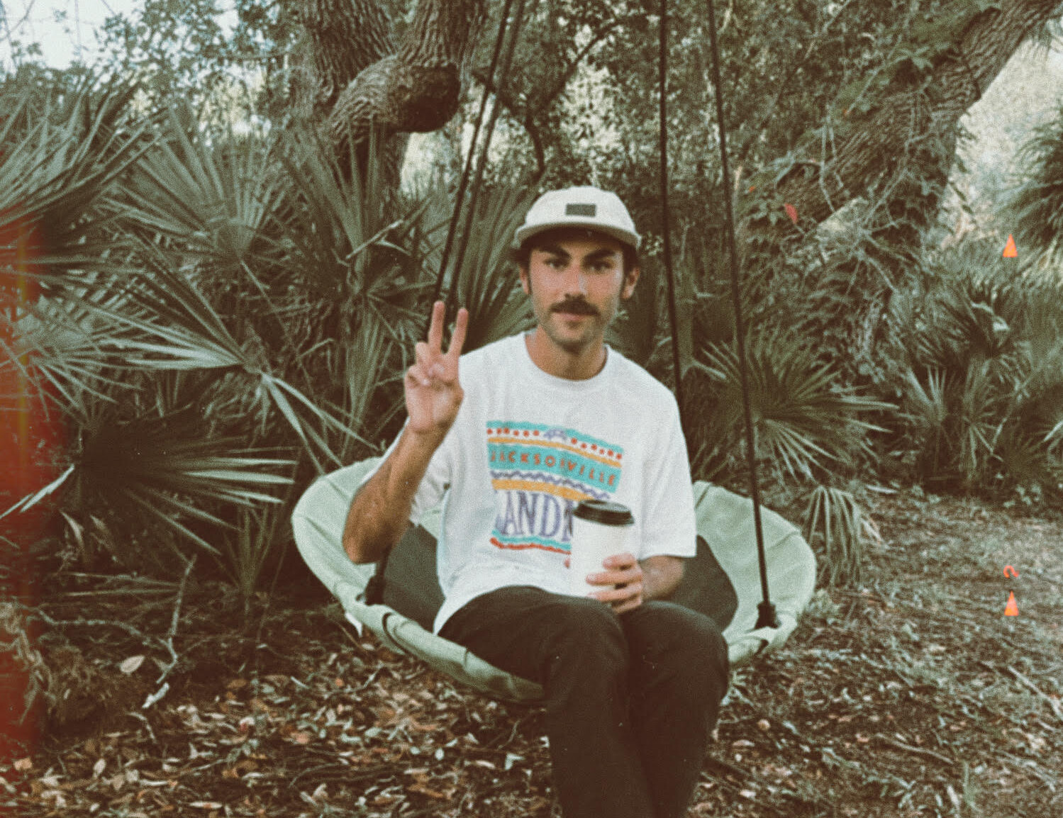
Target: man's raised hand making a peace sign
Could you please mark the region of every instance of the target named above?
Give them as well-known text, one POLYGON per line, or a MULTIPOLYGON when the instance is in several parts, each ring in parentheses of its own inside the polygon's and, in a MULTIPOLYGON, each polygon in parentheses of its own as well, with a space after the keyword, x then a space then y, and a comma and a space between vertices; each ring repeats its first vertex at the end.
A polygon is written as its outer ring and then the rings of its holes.
POLYGON ((429 434, 440 440, 457 417, 465 397, 458 380, 458 357, 469 326, 469 310, 458 310, 451 336, 451 345, 443 354, 443 314, 446 305, 437 301, 432 308, 432 324, 427 342, 414 348, 417 362, 406 370, 403 386, 406 392, 408 428, 416 434, 429 434))

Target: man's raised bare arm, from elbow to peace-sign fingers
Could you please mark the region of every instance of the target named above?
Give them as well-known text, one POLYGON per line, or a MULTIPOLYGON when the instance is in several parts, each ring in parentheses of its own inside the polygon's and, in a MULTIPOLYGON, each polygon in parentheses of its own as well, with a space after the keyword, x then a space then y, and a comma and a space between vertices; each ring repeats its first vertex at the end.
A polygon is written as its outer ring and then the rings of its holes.
POLYGON ((432 310, 427 342, 415 347, 416 361, 406 370, 403 388, 409 420, 399 443, 379 468, 354 496, 343 526, 343 548, 357 563, 376 562, 399 542, 409 526, 414 496, 432 456, 457 417, 465 392, 458 378, 458 358, 465 344, 469 311, 458 310, 444 355, 443 302, 432 310))

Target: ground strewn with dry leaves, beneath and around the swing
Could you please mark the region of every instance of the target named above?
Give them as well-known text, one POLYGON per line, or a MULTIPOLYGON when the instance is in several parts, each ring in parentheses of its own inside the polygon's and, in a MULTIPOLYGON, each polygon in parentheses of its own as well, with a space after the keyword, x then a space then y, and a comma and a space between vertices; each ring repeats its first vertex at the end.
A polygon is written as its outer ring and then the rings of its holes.
MULTIPOLYGON (((879 500, 863 586, 817 592, 735 670, 691 815, 1063 816, 1063 521, 1013 512, 879 500)), ((72 693, 0 761, 0 815, 558 814, 538 709, 457 689, 335 606, 276 602, 241 633, 231 595, 188 589, 172 629, 174 586, 84 584, 44 606, 97 624, 46 626, 72 693)))

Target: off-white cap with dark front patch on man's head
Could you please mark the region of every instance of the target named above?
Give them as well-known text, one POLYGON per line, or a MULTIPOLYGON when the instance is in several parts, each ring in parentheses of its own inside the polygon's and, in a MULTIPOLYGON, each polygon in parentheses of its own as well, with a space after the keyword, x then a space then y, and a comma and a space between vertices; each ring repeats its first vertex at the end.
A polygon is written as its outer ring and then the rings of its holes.
POLYGON ((551 190, 539 197, 524 218, 524 224, 517 228, 513 248, 520 248, 537 233, 555 227, 590 227, 636 250, 642 241, 620 197, 590 186, 551 190))

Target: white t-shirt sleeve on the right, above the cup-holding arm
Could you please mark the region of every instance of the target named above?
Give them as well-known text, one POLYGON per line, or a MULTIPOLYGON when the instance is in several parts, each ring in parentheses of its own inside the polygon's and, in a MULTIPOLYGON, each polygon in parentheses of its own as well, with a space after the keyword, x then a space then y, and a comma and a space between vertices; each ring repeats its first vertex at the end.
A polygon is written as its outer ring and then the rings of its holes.
POLYGON ((657 456, 646 464, 645 518, 639 559, 657 555, 693 557, 697 552, 694 487, 679 408, 674 399, 669 422, 661 424, 660 440, 652 450, 657 456))

